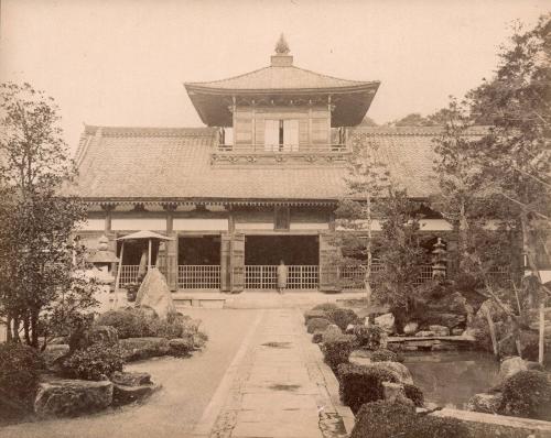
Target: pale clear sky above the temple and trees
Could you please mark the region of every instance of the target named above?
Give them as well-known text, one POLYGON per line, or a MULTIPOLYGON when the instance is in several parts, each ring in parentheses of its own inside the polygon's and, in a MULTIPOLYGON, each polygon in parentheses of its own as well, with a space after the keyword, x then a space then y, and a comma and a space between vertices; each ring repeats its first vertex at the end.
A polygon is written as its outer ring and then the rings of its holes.
POLYGON ((493 75, 514 20, 542 0, 0 0, 0 81, 54 97, 75 150, 86 124, 201 127, 183 83, 269 65, 380 80, 376 122, 429 114, 493 75))

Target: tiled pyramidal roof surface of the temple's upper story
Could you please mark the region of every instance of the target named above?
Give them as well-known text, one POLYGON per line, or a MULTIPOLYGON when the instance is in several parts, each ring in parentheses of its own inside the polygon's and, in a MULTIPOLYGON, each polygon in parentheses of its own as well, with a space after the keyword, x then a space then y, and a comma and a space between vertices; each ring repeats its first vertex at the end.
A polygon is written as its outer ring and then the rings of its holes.
POLYGON ((378 83, 341 79, 289 65, 283 67, 268 66, 222 80, 188 83, 186 87, 220 90, 307 90, 350 88, 372 84, 378 83))

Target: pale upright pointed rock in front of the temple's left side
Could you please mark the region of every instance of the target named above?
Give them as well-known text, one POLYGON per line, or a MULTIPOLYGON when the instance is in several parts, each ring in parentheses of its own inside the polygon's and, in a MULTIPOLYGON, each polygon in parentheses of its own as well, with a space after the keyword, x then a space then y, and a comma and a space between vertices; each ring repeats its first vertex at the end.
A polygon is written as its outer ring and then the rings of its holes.
POLYGON ((138 289, 136 305, 152 308, 159 318, 166 318, 166 315, 176 311, 166 278, 161 271, 156 269, 148 271, 138 289))

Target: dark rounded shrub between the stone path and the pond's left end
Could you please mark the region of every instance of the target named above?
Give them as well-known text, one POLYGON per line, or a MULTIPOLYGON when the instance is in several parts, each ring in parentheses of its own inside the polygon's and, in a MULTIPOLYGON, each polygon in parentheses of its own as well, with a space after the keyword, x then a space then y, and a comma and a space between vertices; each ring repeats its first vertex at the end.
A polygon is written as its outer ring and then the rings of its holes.
POLYGON ((337 369, 341 401, 356 414, 364 403, 383 397, 382 382, 399 383, 396 373, 389 370, 342 363, 337 369))

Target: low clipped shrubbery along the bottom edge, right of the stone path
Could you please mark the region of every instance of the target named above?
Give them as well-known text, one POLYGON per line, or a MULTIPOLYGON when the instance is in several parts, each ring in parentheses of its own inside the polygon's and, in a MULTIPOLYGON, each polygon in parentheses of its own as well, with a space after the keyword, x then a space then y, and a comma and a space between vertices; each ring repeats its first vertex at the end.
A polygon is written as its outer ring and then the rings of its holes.
POLYGON ((378 401, 367 403, 356 416, 350 438, 467 438, 467 426, 450 417, 418 415, 408 405, 378 401))

